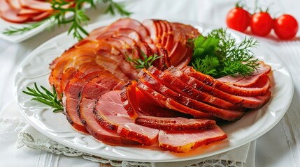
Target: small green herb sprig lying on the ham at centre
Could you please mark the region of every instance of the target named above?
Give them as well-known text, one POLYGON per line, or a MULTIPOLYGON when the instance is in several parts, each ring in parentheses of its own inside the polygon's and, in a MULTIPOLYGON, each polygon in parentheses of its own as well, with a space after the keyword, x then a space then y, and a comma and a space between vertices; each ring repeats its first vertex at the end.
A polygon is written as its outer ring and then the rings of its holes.
POLYGON ((141 51, 141 50, 140 50, 140 52, 141 52, 142 58, 136 58, 136 59, 129 58, 129 56, 126 54, 126 56, 127 56, 127 61, 134 63, 134 67, 135 67, 136 69, 138 69, 138 68, 141 68, 141 69, 143 69, 143 68, 148 69, 148 68, 152 65, 152 63, 153 63, 155 60, 157 60, 158 58, 161 58, 161 57, 162 57, 162 56, 159 56, 159 55, 157 55, 157 54, 152 54, 152 55, 150 55, 150 56, 147 56, 147 55, 145 54, 145 52, 143 52, 143 51, 141 51))

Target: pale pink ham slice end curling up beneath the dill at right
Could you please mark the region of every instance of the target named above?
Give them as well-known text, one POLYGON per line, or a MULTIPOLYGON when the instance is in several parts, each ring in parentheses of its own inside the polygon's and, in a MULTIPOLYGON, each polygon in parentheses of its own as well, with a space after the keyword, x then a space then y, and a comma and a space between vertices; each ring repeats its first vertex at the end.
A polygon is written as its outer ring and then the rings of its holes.
POLYGON ((243 76, 235 76, 232 77, 231 75, 224 76, 218 78, 218 81, 222 81, 226 84, 239 86, 239 87, 252 87, 257 81, 262 77, 264 74, 269 74, 271 72, 271 66, 266 65, 263 61, 259 62, 259 67, 250 77, 243 77, 243 76))

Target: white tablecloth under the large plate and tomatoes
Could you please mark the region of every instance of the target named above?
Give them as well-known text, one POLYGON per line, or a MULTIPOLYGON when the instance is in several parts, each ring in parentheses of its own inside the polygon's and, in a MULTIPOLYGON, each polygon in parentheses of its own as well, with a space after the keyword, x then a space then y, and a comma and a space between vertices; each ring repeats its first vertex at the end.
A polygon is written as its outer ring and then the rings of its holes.
MULTIPOLYGON (((247 1, 248 5, 252 5, 247 1)), ((225 16, 227 12, 234 8, 236 1, 222 1, 222 0, 132 0, 127 1, 127 9, 131 10, 135 18, 158 18, 171 20, 187 20, 192 22, 203 22, 205 24, 215 24, 219 26, 226 26, 225 16)), ((300 2, 296 0, 288 1, 262 1, 259 2, 262 6, 270 6, 270 11, 273 15, 280 13, 289 13, 294 15, 300 22, 300 2)), ((88 10, 88 15, 92 17, 92 22, 111 18, 108 15, 99 16, 103 13, 103 8, 98 10, 88 10), (100 10, 100 11, 99 11, 100 10)), ((56 28, 55 31, 44 31, 33 38, 13 44, 0 40, 0 116, 1 111, 5 109, 13 100, 13 77, 18 65, 26 58, 26 56, 33 51, 38 45, 49 40, 53 36, 66 31, 67 28, 62 26, 56 28)), ((280 56, 283 63, 289 67, 294 83, 295 92, 290 109, 287 114, 280 120, 270 132, 264 134, 254 142, 254 147, 250 149, 246 164, 250 166, 300 166, 300 133, 298 123, 300 119, 300 78, 298 72, 300 71, 300 39, 298 38, 291 42, 283 42, 273 38, 273 33, 269 38, 258 38, 263 40, 274 51, 276 56, 280 56), (255 145, 256 143, 256 145, 255 145)), ((11 107, 11 106, 10 106, 11 107)), ((6 110, 7 111, 7 110, 6 110)), ((23 127, 24 124, 16 125, 23 127)), ((1 129, 1 127, 0 127, 1 129)), ((20 150, 15 148, 15 140, 17 136, 17 129, 9 133, 0 131, 0 166, 55 166, 58 164, 74 164, 76 166, 97 166, 90 161, 82 161, 77 158, 60 157, 54 154, 49 154, 41 150, 32 150, 23 147, 20 150), (45 164, 44 159, 48 159, 48 164, 45 164), (58 160, 59 159, 59 160, 58 160)))

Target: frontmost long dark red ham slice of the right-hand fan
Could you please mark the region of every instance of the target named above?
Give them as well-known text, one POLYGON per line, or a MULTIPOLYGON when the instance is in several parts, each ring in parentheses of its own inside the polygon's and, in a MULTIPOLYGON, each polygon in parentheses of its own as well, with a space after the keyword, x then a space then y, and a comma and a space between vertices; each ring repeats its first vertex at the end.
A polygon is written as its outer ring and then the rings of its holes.
MULTIPOLYGON (((222 109, 216 106, 211 106, 209 104, 205 104, 203 102, 199 102, 197 100, 193 100, 185 95, 181 95, 180 93, 174 92, 171 88, 164 86, 161 82, 157 81, 155 77, 153 77, 147 70, 142 70, 139 74, 140 80, 143 79, 143 84, 149 86, 153 90, 158 93, 162 93, 162 95, 171 98, 172 100, 187 106, 190 109, 194 109, 196 111, 202 113, 208 113, 211 116, 215 116, 217 118, 221 118, 223 120, 239 120, 243 117, 243 111, 222 109)), ((193 113, 190 113, 195 116, 193 113)))

